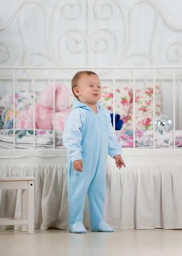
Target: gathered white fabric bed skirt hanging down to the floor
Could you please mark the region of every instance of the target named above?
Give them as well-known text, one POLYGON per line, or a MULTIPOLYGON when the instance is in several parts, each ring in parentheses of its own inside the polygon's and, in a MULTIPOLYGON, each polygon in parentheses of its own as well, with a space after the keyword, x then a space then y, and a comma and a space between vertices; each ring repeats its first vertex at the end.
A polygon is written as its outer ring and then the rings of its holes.
MULTIPOLYGON (((0 159, 0 177, 35 177, 37 229, 68 229, 66 166, 65 156, 0 159)), ((0 190, 0 218, 20 216, 21 191, 0 190)), ((120 229, 181 229, 182 165, 128 166, 119 170, 109 158, 105 221, 120 229)), ((87 203, 84 224, 89 228, 87 203)), ((0 229, 12 228, 0 226, 0 229)))

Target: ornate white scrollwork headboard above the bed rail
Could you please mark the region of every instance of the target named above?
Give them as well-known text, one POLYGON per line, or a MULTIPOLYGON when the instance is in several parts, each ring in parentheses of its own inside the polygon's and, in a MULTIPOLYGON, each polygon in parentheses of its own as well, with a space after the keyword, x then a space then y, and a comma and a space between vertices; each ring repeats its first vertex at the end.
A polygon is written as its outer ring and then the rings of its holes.
MULTIPOLYGON (((4 33, 1 37, 3 42, 0 42, 0 65, 24 66, 31 63, 38 65, 43 62, 44 65, 51 63, 54 66, 75 65, 76 67, 81 63, 86 63, 85 59, 90 61, 87 61, 88 65, 97 66, 98 64, 117 66, 181 64, 182 41, 178 40, 179 35, 182 35, 182 27, 173 24, 169 15, 155 0, 139 0, 130 5, 124 5, 123 2, 119 0, 55 0, 54 3, 50 2, 47 5, 45 1, 23 0, 14 9, 7 22, 0 27, 0 34, 4 33), (41 13, 42 18, 39 20, 37 29, 33 29, 34 24, 29 20, 30 29, 26 30, 23 23, 24 13, 29 10, 29 6, 33 5, 36 11, 41 13), (28 7, 25 8, 26 6, 28 7), (137 6, 139 9, 135 9, 137 6), (148 41, 145 40, 145 33, 142 35, 143 41, 141 42, 147 44, 148 47, 137 49, 131 47, 131 42, 137 38, 137 32, 131 21, 138 17, 141 6, 147 8, 149 15, 152 12, 154 15, 152 14, 152 24, 148 28, 150 29, 147 34, 148 41), (162 47, 161 56, 162 58, 164 56, 162 61, 156 53, 159 50, 156 38, 161 20, 163 26, 173 36, 173 41, 170 42, 168 48, 162 47), (14 45, 11 45, 9 40, 6 40, 6 32, 11 31, 11 26, 17 26, 18 45, 15 45, 16 41, 14 45), (30 37, 31 26, 34 35, 30 37), (35 47, 33 38, 40 36, 37 35, 39 30, 41 30, 40 45, 35 47), (30 41, 31 44, 29 44, 30 41), (21 51, 18 48, 20 45, 21 51), (15 49, 19 51, 16 52, 15 49), (33 58, 41 61, 34 62, 33 58)), ((143 13, 146 15, 146 12, 143 13)), ((146 17, 140 15, 143 21, 146 17)), ((165 34, 160 42, 161 46, 164 41, 165 34)), ((157 72, 161 76, 168 75, 165 70, 157 70, 157 72)))

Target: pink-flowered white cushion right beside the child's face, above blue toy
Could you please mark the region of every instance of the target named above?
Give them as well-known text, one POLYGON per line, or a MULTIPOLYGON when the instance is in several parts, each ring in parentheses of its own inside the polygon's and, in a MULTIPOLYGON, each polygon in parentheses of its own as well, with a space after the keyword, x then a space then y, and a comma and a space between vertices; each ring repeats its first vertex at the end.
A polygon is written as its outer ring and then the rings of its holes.
MULTIPOLYGON (((116 89, 115 92, 115 112, 120 115, 120 119, 125 119, 128 116, 128 111, 130 107, 130 95, 129 88, 124 87, 116 89)), ((100 99, 100 104, 105 106, 105 108, 113 113, 113 88, 102 87, 102 96, 100 99)))

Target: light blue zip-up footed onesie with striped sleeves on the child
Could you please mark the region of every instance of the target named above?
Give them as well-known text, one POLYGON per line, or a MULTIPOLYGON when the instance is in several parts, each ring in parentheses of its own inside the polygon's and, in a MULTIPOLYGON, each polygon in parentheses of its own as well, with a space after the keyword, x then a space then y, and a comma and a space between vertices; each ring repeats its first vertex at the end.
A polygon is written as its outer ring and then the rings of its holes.
POLYGON ((69 230, 86 233, 82 224, 86 194, 91 231, 114 231, 104 221, 105 174, 108 154, 121 155, 111 117, 97 102, 97 114, 79 100, 74 100, 63 133, 63 143, 68 150, 68 206, 69 230), (83 162, 83 172, 77 172, 73 163, 83 162))

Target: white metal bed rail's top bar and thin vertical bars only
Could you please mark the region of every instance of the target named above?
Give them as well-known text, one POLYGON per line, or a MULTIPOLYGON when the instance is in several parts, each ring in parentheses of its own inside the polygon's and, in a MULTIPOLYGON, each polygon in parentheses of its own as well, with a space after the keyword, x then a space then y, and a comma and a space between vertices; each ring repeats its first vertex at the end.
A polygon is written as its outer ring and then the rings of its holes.
MULTIPOLYGON (((157 69, 173 69, 173 78, 160 78, 160 81, 163 81, 164 79, 173 79, 173 150, 175 150, 175 129, 176 129, 176 70, 177 69, 182 69, 182 66, 136 66, 136 67, 0 67, 0 70, 12 70, 13 73, 13 109, 15 110, 15 92, 16 92, 16 81, 17 80, 30 80, 30 78, 21 78, 21 77, 16 77, 15 70, 32 70, 32 86, 33 86, 33 150, 36 150, 36 145, 35 145, 35 79, 36 80, 45 80, 46 78, 36 78, 36 70, 53 70, 53 87, 54 87, 54 96, 53 96, 53 149, 57 151, 56 148, 56 142, 55 142, 55 81, 57 80, 56 78, 56 70, 73 70, 73 74, 75 74, 75 70, 94 70, 97 72, 97 70, 111 70, 113 73, 112 76, 112 85, 113 85, 113 91, 114 91, 114 98, 113 98, 113 116, 114 116, 114 130, 115 130, 115 83, 116 83, 116 70, 132 70, 133 78, 132 78, 132 83, 133 83, 133 92, 135 92, 136 89, 136 81, 137 79, 143 79, 143 78, 136 78, 136 70, 146 70, 150 69, 153 70, 153 79, 151 78, 146 78, 145 83, 147 83, 148 80, 153 80, 153 149, 156 150, 155 147, 155 85, 156 85, 156 70, 157 69)), ((0 81, 2 80, 8 80, 12 79, 10 77, 1 77, 0 81)), ((49 78, 50 79, 50 78, 49 78)), ((60 79, 60 78, 59 78, 60 79)), ((58 79, 58 80, 59 80, 58 79)), ((108 78, 102 78, 102 80, 107 80, 108 78)), ((121 78, 122 80, 125 79, 130 79, 131 78, 121 78)), ((110 79, 111 80, 111 79, 110 79)), ((182 80, 182 79, 181 79, 182 80)), ((180 81, 180 78, 178 79, 180 81)), ((13 120, 13 149, 16 149, 16 142, 15 142, 15 111, 13 111, 14 115, 14 120, 13 120)), ((135 123, 135 93, 133 93, 133 149, 135 149, 135 128, 136 128, 136 123, 135 123)), ((29 150, 29 149, 28 149, 29 150)), ((20 151, 20 149, 18 150, 20 151)), ((27 151, 27 150, 26 150, 27 151)))

